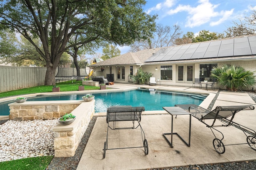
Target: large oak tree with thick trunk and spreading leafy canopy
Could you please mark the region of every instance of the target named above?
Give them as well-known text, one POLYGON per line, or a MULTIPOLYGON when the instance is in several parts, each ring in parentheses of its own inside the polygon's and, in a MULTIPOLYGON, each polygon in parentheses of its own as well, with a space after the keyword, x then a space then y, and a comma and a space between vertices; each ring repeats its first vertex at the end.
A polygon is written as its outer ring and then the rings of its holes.
POLYGON ((53 85, 60 57, 69 48, 98 38, 129 45, 150 37, 156 16, 143 12, 145 4, 145 0, 4 0, 0 28, 8 27, 30 41, 46 62, 44 84, 53 85), (68 44, 75 34, 87 38, 68 44))

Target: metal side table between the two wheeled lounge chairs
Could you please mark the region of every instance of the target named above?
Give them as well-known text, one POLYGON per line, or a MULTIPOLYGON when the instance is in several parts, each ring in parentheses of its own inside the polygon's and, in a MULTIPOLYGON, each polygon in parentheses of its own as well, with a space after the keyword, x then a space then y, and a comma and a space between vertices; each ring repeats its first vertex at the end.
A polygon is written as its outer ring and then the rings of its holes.
POLYGON ((172 145, 172 135, 178 135, 178 137, 188 146, 190 147, 190 136, 191 136, 191 114, 180 107, 163 107, 171 116, 172 116, 172 126, 171 126, 171 133, 163 133, 164 138, 169 143, 171 148, 172 145), (189 135, 188 135, 188 143, 178 134, 173 132, 173 116, 174 115, 189 115, 189 135), (171 141, 168 140, 166 135, 171 135, 171 141))

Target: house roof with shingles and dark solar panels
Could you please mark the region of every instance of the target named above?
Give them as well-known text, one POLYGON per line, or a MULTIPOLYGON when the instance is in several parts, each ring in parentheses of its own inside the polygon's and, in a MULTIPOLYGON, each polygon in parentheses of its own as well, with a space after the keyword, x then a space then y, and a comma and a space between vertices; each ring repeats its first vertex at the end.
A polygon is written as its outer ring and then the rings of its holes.
POLYGON ((185 45, 126 53, 91 65, 152 65, 256 59, 256 35, 247 35, 185 45))

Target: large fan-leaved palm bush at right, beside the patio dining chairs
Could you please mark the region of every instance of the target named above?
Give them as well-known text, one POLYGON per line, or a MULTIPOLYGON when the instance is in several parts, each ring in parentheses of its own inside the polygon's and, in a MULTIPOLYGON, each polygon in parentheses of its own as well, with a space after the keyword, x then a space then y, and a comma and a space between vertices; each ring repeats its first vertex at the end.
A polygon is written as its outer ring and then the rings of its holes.
POLYGON ((223 64, 222 67, 214 67, 211 76, 217 79, 218 85, 226 86, 226 89, 231 91, 250 88, 256 84, 254 72, 234 64, 223 64))

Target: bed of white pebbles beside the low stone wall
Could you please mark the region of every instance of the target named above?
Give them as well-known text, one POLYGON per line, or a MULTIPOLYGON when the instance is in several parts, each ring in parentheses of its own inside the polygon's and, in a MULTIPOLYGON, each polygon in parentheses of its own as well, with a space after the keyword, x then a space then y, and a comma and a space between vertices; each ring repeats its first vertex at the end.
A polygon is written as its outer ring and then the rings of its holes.
POLYGON ((0 162, 54 155, 52 128, 57 119, 5 121, 0 125, 0 162))

